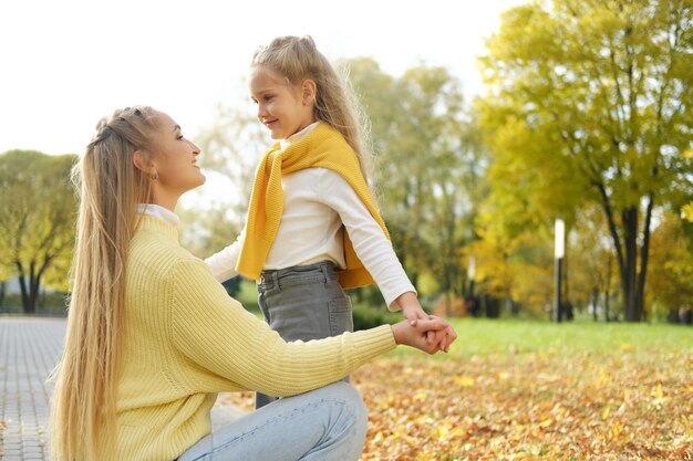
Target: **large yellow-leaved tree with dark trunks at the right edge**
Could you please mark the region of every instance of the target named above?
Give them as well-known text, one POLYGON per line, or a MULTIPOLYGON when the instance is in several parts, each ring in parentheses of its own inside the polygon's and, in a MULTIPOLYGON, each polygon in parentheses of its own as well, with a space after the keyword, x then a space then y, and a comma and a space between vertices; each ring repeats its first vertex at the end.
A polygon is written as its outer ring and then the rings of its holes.
POLYGON ((654 210, 691 193, 692 18, 691 0, 532 2, 480 60, 496 200, 545 227, 597 203, 627 321, 643 314, 654 210))

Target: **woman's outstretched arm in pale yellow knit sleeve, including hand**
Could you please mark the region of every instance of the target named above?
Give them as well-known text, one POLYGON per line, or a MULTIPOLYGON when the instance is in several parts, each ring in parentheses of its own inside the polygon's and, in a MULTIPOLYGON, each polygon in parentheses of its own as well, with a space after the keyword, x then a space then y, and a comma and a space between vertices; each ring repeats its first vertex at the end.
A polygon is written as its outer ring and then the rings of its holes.
POLYGON ((275 396, 301 394, 341 379, 396 342, 434 353, 426 331, 445 321, 405 322, 393 328, 344 333, 308 343, 286 343, 279 334, 229 297, 200 261, 176 265, 172 282, 170 337, 180 354, 247 389, 275 396))

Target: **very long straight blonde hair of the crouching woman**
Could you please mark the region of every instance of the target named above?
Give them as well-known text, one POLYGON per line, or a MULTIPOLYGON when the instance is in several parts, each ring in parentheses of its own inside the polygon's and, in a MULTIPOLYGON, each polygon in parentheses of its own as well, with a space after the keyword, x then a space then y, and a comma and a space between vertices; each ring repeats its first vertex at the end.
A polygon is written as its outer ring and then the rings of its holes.
POLYGON ((153 151, 157 115, 136 106, 101 119, 72 170, 81 200, 65 348, 53 373, 52 460, 95 460, 99 446, 115 439, 127 249, 152 180, 133 153, 153 151))

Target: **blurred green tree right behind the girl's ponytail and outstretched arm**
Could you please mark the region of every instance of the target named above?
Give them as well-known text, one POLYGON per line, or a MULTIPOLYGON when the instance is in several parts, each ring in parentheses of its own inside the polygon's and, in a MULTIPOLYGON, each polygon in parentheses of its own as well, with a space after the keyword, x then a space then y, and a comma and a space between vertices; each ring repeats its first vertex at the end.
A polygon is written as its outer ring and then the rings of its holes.
POLYGON ((415 284, 430 273, 442 293, 461 296, 462 248, 474 237, 485 158, 459 82, 443 67, 394 77, 371 59, 348 65, 371 121, 375 188, 393 245, 415 284))

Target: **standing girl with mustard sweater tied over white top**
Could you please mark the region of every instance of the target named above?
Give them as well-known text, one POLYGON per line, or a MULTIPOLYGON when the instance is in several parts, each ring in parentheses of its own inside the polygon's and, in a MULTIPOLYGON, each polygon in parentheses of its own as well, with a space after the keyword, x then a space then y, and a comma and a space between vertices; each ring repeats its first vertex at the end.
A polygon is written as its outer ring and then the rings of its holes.
MULTIPOLYGON (((245 229, 205 261, 214 276, 257 280, 265 319, 287 340, 352 331, 342 289, 373 281, 412 325, 428 318, 369 189, 349 87, 312 39, 282 36, 257 51, 249 86, 279 142, 258 165, 245 229)), ((271 400, 258 395, 256 407, 271 400)))

